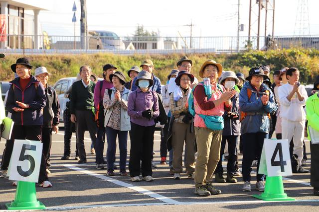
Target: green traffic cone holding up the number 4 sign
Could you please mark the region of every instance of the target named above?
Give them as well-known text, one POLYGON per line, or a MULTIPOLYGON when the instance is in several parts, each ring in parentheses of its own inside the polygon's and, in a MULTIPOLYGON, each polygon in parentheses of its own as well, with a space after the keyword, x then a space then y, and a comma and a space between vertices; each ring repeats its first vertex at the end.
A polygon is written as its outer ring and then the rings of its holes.
POLYGON ((287 197, 284 191, 283 177, 267 177, 265 191, 261 195, 253 195, 253 197, 264 201, 295 201, 296 199, 287 197))

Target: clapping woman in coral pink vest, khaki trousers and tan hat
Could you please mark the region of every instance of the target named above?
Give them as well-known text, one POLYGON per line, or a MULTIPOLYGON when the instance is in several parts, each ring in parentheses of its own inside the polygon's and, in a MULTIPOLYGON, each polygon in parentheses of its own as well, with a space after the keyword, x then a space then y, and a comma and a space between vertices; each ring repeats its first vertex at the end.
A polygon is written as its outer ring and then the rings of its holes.
MULTIPOLYGON (((195 194, 199 196, 209 196, 220 194, 213 184, 213 173, 219 161, 220 143, 222 130, 209 129, 198 114, 210 116, 219 119, 224 112, 230 111, 232 104, 231 98, 236 91, 226 91, 222 85, 217 84, 217 78, 222 73, 222 65, 213 60, 206 61, 199 70, 199 76, 209 78, 210 86, 199 83, 193 88, 194 94, 194 126, 197 143, 197 160, 195 165, 195 194), (211 87, 211 96, 208 98, 205 90, 209 91, 211 87)), ((222 124, 220 123, 220 126, 222 124)))

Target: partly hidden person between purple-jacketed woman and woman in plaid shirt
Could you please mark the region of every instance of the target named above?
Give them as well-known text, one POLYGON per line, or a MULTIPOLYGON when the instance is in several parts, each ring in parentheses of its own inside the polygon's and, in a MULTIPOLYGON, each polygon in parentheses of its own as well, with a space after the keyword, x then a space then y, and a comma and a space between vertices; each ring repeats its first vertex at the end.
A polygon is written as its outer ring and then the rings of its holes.
MULTIPOLYGON (((178 74, 178 70, 173 69, 167 76, 167 82, 165 85, 162 85, 161 88, 161 96, 163 97, 163 106, 165 109, 165 113, 167 115, 168 120, 171 117, 171 112, 169 110, 169 102, 170 97, 168 93, 168 81, 170 78, 176 78, 178 74)), ((166 157, 167 157, 167 137, 168 137, 168 127, 169 121, 164 125, 164 128, 160 129, 160 164, 166 164, 166 157)), ((172 149, 169 151, 169 170, 172 173, 172 157, 173 151, 172 149)), ((172 173, 171 175, 173 175, 172 173)))

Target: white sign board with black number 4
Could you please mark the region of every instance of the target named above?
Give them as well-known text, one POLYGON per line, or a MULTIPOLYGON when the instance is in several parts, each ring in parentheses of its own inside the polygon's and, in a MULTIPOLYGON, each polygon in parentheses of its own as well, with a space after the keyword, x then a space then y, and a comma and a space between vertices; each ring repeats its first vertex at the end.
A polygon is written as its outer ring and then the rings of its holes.
POLYGON ((287 139, 264 140, 258 173, 270 177, 293 175, 287 139))

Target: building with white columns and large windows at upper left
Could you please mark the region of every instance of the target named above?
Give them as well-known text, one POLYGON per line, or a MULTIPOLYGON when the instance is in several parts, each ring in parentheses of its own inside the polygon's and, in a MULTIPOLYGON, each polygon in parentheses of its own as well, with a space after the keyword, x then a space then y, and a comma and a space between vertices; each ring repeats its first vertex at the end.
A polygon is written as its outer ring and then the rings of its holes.
POLYGON ((38 15, 48 10, 47 4, 47 0, 0 0, 1 48, 38 49, 38 15))

